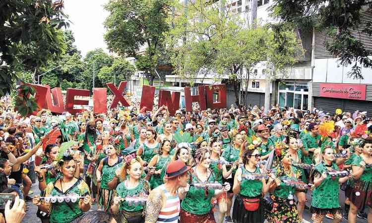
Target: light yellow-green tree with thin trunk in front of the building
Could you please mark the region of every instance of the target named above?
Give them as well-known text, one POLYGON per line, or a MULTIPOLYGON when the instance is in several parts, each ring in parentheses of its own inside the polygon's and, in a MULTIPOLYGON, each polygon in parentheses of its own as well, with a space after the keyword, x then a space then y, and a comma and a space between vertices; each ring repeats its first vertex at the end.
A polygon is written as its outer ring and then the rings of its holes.
MULTIPOLYGON (((293 55, 298 46, 290 30, 279 32, 259 23, 248 26, 226 8, 227 1, 209 3, 208 0, 188 1, 176 4, 176 18, 169 17, 174 29, 167 33, 167 46, 172 49, 171 61, 175 73, 187 78, 190 84, 196 76, 214 75, 227 78, 233 86, 236 104, 241 109, 239 92, 241 83, 248 86, 249 75, 260 61, 270 64, 275 77, 285 65, 296 60, 293 55), (284 41, 285 40, 285 41, 284 41)), ((247 99, 245 101, 247 103, 247 99)))

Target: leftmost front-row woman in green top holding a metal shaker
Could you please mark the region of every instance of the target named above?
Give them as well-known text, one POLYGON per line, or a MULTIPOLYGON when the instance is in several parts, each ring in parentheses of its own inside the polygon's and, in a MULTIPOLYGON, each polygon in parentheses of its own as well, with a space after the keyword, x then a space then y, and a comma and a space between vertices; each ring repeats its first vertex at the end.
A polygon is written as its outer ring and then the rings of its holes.
POLYGON ((78 202, 46 203, 40 196, 35 196, 33 203, 45 213, 50 214, 50 223, 70 223, 83 212, 87 212, 91 207, 91 197, 89 187, 81 178, 74 177, 76 162, 72 155, 67 151, 63 154, 59 162, 62 178, 55 182, 50 182, 45 190, 45 196, 81 196, 78 202))

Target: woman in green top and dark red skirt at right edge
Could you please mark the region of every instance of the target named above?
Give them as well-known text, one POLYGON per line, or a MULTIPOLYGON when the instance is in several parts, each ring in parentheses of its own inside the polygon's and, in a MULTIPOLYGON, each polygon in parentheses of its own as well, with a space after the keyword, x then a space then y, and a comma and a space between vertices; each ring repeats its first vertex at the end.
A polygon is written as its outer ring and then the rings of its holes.
POLYGON ((362 210, 364 204, 370 207, 368 222, 372 222, 372 138, 362 139, 359 145, 363 148, 362 154, 355 156, 351 163, 353 177, 345 192, 350 200, 350 223, 356 222, 358 210, 362 210))

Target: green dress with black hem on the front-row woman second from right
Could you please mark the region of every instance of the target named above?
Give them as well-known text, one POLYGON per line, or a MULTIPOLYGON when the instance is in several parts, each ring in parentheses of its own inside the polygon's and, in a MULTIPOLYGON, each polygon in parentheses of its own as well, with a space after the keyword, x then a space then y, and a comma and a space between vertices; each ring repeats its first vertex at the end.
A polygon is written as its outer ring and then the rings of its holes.
MULTIPOLYGON (((332 164, 332 169, 338 170, 335 163, 332 164)), ((316 175, 321 175, 323 172, 329 171, 324 163, 316 165, 314 172, 316 175)), ((319 186, 311 193, 311 211, 313 213, 325 215, 327 213, 335 214, 340 209, 339 195, 340 185, 339 177, 327 177, 320 183, 319 186)))

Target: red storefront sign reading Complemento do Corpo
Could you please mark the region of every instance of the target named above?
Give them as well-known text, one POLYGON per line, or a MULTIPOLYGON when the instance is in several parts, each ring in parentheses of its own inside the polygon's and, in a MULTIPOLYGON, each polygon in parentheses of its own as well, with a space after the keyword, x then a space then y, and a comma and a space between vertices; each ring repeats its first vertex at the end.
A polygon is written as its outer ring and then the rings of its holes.
POLYGON ((320 97, 364 101, 366 100, 366 85, 320 83, 320 97))

